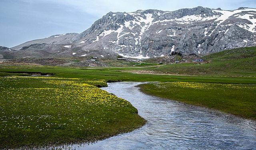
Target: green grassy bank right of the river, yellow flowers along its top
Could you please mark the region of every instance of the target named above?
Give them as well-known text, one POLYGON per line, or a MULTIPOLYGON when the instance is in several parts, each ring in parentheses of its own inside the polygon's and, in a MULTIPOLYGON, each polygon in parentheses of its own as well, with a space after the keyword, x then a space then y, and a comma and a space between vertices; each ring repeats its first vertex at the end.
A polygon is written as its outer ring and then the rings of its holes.
POLYGON ((256 85, 167 82, 139 86, 146 94, 256 120, 256 85))

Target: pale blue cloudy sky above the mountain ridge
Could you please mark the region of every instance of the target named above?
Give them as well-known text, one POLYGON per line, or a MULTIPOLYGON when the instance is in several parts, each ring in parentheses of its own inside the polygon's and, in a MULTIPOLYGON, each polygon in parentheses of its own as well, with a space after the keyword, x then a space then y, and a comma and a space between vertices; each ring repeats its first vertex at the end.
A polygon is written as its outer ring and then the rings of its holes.
POLYGON ((256 8, 256 0, 0 0, 0 46, 83 32, 106 13, 180 8, 256 8))

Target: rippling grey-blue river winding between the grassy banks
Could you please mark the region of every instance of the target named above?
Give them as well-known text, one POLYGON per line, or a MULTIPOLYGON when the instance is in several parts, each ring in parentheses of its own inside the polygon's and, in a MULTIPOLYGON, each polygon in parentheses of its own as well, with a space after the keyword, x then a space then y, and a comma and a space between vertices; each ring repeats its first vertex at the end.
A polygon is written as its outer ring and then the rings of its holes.
POLYGON ((115 82, 102 88, 124 98, 148 123, 81 150, 256 149, 256 122, 140 92, 141 82, 115 82))

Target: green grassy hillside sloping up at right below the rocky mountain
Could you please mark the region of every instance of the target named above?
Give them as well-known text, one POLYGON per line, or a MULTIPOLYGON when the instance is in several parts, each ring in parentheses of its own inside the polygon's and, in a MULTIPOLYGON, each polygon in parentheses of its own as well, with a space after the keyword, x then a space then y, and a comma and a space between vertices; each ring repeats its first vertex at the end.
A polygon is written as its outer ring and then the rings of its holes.
POLYGON ((203 76, 256 76, 256 47, 225 50, 202 58, 209 63, 167 64, 141 70, 203 76))

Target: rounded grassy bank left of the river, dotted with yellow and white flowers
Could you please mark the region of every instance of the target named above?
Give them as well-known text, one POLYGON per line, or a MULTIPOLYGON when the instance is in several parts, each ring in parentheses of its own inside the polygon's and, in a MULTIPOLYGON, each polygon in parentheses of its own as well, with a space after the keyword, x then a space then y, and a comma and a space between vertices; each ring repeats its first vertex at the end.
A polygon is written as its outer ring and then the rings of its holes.
POLYGON ((104 80, 0 77, 0 149, 102 140, 145 120, 128 101, 100 90, 104 80))

